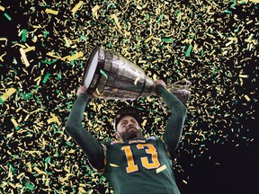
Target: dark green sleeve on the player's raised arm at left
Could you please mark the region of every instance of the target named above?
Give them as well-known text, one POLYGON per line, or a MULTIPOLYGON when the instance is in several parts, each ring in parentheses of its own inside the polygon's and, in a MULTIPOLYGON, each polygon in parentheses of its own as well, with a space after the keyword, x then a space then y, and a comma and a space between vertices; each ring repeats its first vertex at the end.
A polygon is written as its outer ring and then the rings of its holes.
POLYGON ((103 145, 82 127, 85 106, 88 101, 85 93, 78 95, 68 116, 65 130, 84 151, 91 166, 96 170, 102 170, 105 161, 103 145))

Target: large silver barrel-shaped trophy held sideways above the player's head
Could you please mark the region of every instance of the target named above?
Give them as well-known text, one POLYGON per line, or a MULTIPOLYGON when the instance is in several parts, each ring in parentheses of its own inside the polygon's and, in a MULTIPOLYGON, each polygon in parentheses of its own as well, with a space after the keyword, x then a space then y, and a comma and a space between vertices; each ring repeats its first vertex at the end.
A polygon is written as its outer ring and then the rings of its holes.
MULTIPOLYGON (((140 67, 111 50, 95 47, 85 65, 83 84, 96 98, 136 100, 153 93, 154 81, 140 67)), ((168 90, 186 103, 191 82, 183 80, 168 90)))

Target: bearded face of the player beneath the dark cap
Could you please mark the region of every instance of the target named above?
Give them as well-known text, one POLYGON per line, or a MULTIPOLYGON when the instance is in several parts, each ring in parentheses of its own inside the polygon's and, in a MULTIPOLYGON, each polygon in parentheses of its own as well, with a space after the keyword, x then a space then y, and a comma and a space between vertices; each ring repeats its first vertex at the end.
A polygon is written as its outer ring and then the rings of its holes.
POLYGON ((129 115, 124 116, 117 125, 115 136, 123 141, 141 137, 138 121, 129 115))

